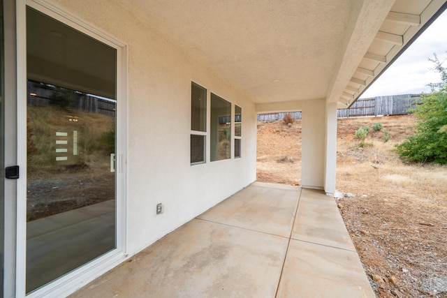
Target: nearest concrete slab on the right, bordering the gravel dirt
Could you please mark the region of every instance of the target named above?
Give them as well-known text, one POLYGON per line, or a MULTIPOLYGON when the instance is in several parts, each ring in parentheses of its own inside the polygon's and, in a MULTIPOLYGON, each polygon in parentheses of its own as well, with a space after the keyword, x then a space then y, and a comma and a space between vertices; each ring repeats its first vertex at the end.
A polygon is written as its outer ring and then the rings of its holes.
POLYGON ((291 240, 277 297, 376 297, 355 251, 291 240))

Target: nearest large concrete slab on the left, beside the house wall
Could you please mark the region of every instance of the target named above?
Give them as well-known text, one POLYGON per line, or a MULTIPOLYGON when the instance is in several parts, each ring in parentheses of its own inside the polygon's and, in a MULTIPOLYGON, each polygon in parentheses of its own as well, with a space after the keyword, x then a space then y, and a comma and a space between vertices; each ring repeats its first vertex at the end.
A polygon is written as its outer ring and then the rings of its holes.
POLYGON ((73 297, 274 297, 287 242, 193 219, 73 297))

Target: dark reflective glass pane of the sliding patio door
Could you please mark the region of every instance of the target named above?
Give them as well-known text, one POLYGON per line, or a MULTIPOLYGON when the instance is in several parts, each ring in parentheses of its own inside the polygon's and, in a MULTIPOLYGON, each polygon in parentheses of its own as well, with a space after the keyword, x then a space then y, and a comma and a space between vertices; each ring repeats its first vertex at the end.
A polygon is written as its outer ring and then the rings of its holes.
POLYGON ((116 55, 27 8, 27 292, 116 247, 116 55))

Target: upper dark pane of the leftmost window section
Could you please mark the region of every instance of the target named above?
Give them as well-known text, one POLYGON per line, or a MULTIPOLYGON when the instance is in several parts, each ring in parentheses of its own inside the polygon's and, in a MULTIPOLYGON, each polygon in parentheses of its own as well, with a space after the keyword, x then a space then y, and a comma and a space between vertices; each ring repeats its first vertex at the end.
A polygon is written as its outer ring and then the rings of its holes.
POLYGON ((191 83, 191 131, 207 131, 207 90, 191 83))

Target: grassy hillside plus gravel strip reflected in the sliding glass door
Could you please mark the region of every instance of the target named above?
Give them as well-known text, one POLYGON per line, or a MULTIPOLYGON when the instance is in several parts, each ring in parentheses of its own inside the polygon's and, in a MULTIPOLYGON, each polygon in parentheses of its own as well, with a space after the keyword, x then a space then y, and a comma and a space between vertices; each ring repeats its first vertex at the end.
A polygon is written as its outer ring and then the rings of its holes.
POLYGON ((114 117, 55 106, 29 106, 27 117, 28 221, 115 198, 114 117))

